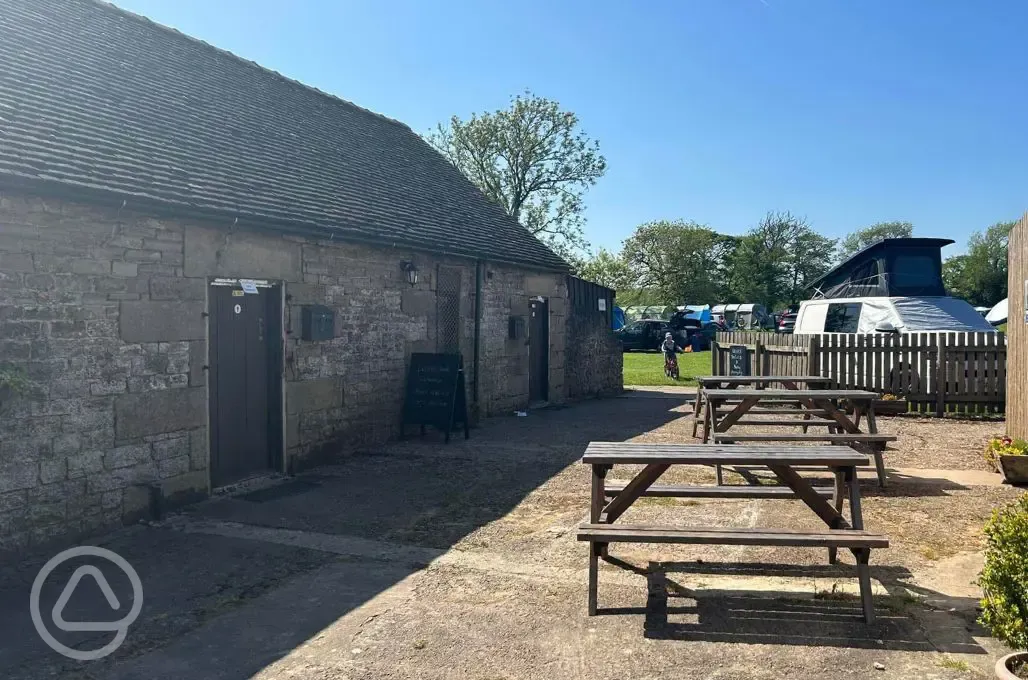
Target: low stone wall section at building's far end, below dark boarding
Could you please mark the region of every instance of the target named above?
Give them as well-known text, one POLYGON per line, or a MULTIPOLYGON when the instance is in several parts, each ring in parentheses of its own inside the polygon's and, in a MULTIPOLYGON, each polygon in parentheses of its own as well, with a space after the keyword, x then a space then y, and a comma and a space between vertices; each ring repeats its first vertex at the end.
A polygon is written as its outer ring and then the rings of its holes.
POLYGON ((607 314, 573 311, 566 328, 567 398, 605 397, 624 391, 624 355, 607 314))

